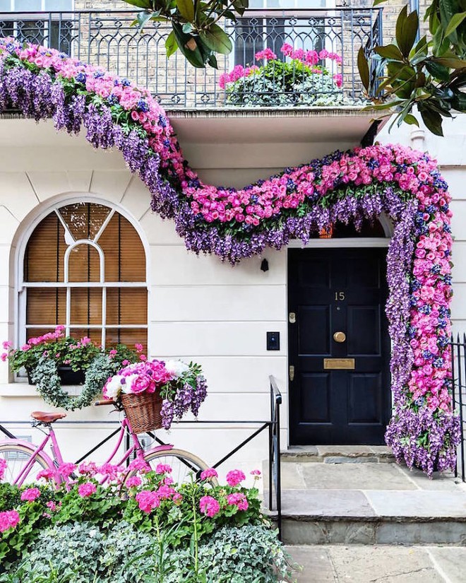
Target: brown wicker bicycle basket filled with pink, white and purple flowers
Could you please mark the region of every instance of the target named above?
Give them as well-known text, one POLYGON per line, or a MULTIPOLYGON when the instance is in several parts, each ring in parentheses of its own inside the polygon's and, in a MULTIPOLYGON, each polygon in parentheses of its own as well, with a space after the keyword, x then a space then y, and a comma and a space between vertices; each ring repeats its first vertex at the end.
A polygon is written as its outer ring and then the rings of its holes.
POLYGON ((102 394, 119 401, 133 431, 142 433, 169 429, 174 418, 189 410, 197 416, 207 384, 199 365, 143 358, 108 379, 102 394))

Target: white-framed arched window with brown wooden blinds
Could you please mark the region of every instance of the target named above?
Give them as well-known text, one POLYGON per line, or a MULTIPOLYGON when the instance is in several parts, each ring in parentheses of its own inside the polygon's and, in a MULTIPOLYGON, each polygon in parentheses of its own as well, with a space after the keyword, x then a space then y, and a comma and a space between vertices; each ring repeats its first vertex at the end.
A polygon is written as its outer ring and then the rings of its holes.
POLYGON ((136 229, 113 208, 78 202, 40 221, 25 248, 21 339, 57 324, 102 346, 147 346, 145 252, 136 229))

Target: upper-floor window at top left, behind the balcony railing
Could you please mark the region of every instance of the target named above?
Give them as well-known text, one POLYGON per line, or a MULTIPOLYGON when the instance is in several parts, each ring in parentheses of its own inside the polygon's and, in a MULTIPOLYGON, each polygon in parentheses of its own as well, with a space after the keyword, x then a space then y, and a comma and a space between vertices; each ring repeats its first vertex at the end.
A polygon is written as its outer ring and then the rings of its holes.
POLYGON ((73 0, 0 0, 0 36, 15 37, 71 54, 73 0), (35 14, 46 11, 50 14, 35 14), (25 14, 15 14, 24 12, 25 14), (8 16, 6 13, 13 13, 8 16))

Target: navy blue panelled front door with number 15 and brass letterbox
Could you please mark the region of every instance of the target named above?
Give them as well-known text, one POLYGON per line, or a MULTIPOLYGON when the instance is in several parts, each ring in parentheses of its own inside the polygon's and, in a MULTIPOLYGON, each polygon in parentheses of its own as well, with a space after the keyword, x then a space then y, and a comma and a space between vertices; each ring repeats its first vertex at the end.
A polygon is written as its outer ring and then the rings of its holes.
POLYGON ((292 444, 383 444, 386 249, 289 249, 292 444))

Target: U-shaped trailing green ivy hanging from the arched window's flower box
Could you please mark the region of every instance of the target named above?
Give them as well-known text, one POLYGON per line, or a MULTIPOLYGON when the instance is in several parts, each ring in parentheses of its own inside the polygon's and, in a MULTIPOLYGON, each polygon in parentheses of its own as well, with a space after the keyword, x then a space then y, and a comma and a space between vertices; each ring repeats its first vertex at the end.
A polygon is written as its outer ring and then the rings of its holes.
POLYGON ((90 406, 102 393, 104 384, 114 375, 117 368, 119 364, 112 362, 108 356, 97 356, 85 371, 85 382, 80 394, 71 396, 61 387, 56 361, 43 356, 32 371, 32 381, 35 382, 37 392, 46 403, 66 411, 74 411, 90 406))

